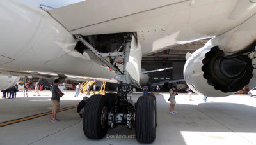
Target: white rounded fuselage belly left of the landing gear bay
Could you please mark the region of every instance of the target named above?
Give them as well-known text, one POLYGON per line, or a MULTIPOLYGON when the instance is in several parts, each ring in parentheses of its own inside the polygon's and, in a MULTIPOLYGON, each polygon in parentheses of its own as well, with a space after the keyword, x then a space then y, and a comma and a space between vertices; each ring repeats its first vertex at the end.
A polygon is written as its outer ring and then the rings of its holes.
POLYGON ((76 52, 70 32, 38 5, 1 1, 1 8, 1 69, 115 78, 92 53, 76 52))

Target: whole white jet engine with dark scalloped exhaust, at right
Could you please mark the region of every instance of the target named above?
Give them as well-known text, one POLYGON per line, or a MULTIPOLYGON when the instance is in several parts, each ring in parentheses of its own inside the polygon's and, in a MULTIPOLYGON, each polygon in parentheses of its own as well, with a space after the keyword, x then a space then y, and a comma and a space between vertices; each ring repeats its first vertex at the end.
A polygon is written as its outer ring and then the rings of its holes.
POLYGON ((218 46, 205 46, 186 61, 184 79, 200 95, 223 97, 248 85, 252 71, 252 59, 248 55, 227 57, 218 46))

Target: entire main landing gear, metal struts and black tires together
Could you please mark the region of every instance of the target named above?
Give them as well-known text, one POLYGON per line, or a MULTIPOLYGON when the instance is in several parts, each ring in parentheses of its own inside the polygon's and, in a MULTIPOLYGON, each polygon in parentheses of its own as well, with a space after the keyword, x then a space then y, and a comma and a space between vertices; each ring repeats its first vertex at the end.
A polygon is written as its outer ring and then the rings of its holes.
MULTIPOLYGON (((76 35, 87 48, 99 57, 106 66, 118 74, 118 92, 106 95, 92 95, 84 107, 83 130, 90 139, 101 139, 108 128, 125 125, 128 129, 135 127, 138 142, 150 143, 156 138, 156 97, 140 96, 137 103, 132 102, 133 87, 138 84, 127 71, 127 62, 131 50, 132 34, 125 34, 122 46, 115 53, 99 53, 83 36, 76 35), (113 62, 105 59, 114 56, 113 62), (122 68, 115 65, 116 58, 122 57, 122 68), (120 71, 122 70, 122 71, 120 71)), ((137 85, 138 86, 138 85, 137 85)))

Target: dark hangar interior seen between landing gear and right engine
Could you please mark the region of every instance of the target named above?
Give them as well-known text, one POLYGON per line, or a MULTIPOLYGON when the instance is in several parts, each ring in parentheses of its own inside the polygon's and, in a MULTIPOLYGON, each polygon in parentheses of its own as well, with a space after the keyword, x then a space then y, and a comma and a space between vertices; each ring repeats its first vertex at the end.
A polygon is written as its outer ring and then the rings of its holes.
MULTIPOLYGON (((193 53, 198 48, 202 48, 209 39, 195 41, 185 45, 179 45, 172 48, 166 48, 161 52, 156 52, 142 57, 141 69, 143 71, 151 71, 156 69, 170 68, 164 71, 150 72, 148 76, 148 84, 152 86, 161 86, 162 91, 168 91, 170 86, 177 86, 177 83, 181 83, 184 86, 186 83, 183 80, 183 68, 186 62, 186 53, 193 53)), ((143 80, 140 80, 143 81, 143 80)), ((115 90, 115 83, 106 83, 106 87, 109 90, 115 90)))

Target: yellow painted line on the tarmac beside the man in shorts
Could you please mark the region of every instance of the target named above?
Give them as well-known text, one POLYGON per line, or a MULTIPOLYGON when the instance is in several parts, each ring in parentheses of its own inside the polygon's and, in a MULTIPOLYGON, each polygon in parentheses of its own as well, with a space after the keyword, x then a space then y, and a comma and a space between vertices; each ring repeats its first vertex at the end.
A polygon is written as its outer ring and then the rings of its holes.
MULTIPOLYGON (((68 109, 73 109, 73 108, 76 108, 76 107, 77 107, 77 105, 76 106, 71 106, 71 107, 65 107, 63 109, 60 109, 58 112, 66 111, 68 109)), ((4 127, 6 125, 12 125, 14 123, 19 123, 21 121, 32 120, 34 118, 38 118, 38 117, 45 116, 45 115, 48 115, 48 114, 52 114, 52 111, 46 112, 46 113, 35 114, 35 115, 32 115, 32 116, 27 116, 27 117, 24 117, 24 118, 19 118, 19 119, 16 119, 16 120, 10 120, 10 121, 1 122, 0 123, 0 127, 4 127)))

